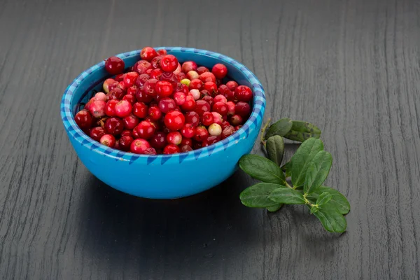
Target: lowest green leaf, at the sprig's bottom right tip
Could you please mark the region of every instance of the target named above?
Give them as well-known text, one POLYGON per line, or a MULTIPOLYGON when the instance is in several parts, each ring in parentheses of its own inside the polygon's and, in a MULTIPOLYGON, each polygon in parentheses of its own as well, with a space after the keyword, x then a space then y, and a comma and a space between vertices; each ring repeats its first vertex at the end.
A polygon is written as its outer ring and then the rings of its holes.
POLYGON ((330 204, 318 207, 318 211, 313 212, 314 216, 321 221, 325 230, 329 232, 345 232, 347 228, 346 218, 330 204))

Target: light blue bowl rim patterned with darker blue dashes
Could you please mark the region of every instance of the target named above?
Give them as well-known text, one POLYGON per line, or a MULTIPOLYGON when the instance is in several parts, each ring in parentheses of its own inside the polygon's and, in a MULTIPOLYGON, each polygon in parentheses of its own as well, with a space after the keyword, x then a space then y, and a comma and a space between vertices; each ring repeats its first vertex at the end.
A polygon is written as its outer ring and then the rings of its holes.
MULTIPOLYGON (((108 146, 104 146, 97 141, 91 139, 85 132, 83 132, 73 117, 72 109, 71 109, 71 101, 73 99, 73 92, 76 90, 78 85, 87 78, 90 74, 94 73, 94 71, 99 71, 100 69, 104 68, 105 62, 99 62, 94 66, 91 66, 89 69, 80 73, 80 75, 71 82, 66 90, 64 91, 62 102, 60 104, 60 114, 62 117, 62 122, 64 124, 64 128, 66 132, 69 134, 69 137, 73 137, 76 139, 79 144, 82 146, 90 146, 91 151, 95 151, 97 153, 115 158, 116 160, 128 161, 130 164, 139 158, 146 158, 147 164, 151 164, 154 160, 160 158, 161 164, 164 164, 169 158, 179 158, 179 162, 181 163, 183 160, 188 160, 188 158, 197 160, 197 158, 201 158, 200 155, 211 155, 212 153, 217 153, 219 151, 225 151, 228 147, 233 146, 239 142, 240 139, 248 138, 249 134, 253 129, 258 127, 258 120, 262 120, 265 111, 265 91, 258 80, 258 78, 243 64, 240 64, 235 59, 231 57, 222 55, 218 52, 211 52, 209 50, 201 50, 197 48, 183 48, 183 47, 157 47, 155 50, 165 49, 168 53, 170 52, 191 52, 195 54, 199 54, 202 56, 208 56, 215 59, 222 60, 225 64, 230 64, 234 66, 239 71, 244 73, 246 78, 248 79, 249 83, 251 83, 251 89, 253 90, 253 109, 251 111, 251 116, 249 116, 248 120, 244 123, 244 125, 237 130, 234 134, 230 135, 221 141, 218 141, 215 144, 212 144, 207 147, 203 147, 197 150, 189 151, 187 153, 175 153, 172 155, 139 155, 130 152, 124 152, 117 150, 115 148, 110 148, 108 146), (206 153, 207 152, 207 153, 206 153)), ((131 52, 123 52, 116 57, 120 57, 121 59, 126 59, 133 56, 139 56, 141 50, 133 50, 131 52)), ((140 57, 139 57, 140 58, 140 57)))

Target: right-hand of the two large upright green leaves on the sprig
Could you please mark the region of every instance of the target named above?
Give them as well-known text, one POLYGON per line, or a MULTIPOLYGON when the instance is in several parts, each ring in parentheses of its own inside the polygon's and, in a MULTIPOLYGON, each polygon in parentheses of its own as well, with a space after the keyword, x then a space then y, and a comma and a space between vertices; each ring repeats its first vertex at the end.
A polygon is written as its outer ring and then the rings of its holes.
POLYGON ((322 185, 330 173, 332 156, 325 151, 319 151, 307 167, 307 174, 304 179, 304 193, 314 193, 316 188, 322 185))

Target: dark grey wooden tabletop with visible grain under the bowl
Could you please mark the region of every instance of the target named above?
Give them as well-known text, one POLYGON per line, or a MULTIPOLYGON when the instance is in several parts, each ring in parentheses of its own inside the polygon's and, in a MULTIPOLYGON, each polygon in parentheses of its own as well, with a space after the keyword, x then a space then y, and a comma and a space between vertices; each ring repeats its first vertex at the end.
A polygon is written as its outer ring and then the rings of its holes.
POLYGON ((0 279, 419 279, 419 5, 2 0, 0 279), (254 181, 242 172, 174 201, 95 179, 64 132, 62 93, 145 45, 234 57, 264 85, 266 119, 321 127, 347 232, 326 233, 303 207, 243 207, 254 181))

